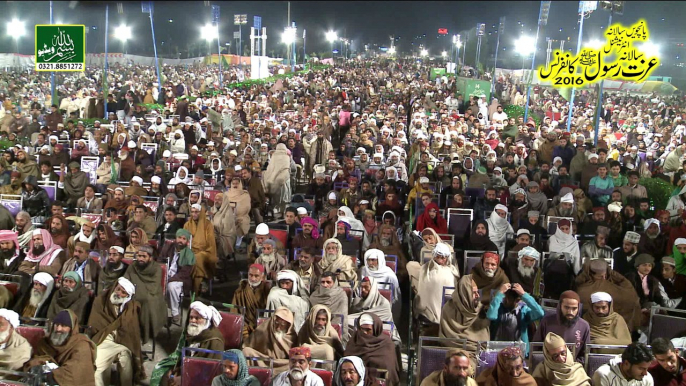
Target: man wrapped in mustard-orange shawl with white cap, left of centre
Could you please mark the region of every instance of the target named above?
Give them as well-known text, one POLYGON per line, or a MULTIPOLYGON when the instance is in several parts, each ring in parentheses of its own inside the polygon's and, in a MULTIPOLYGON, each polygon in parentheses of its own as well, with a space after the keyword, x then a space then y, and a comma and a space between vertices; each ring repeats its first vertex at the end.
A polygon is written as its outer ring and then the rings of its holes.
POLYGON ((217 268, 217 261, 219 261, 217 243, 214 238, 214 225, 207 218, 207 214, 200 204, 193 204, 191 216, 183 229, 190 232, 193 237, 191 250, 195 254, 195 269, 192 291, 199 294, 201 285, 205 287, 206 282, 214 278, 214 271, 217 268))

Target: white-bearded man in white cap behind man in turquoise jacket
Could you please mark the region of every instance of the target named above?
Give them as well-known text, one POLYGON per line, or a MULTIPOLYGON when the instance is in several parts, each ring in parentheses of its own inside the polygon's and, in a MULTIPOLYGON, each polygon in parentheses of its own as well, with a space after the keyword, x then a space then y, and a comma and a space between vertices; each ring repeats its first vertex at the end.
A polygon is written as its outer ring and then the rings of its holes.
POLYGON ((536 248, 524 247, 516 257, 508 257, 501 265, 511 283, 520 284, 524 291, 537 300, 543 296, 541 291, 543 271, 538 266, 540 258, 541 254, 536 248))

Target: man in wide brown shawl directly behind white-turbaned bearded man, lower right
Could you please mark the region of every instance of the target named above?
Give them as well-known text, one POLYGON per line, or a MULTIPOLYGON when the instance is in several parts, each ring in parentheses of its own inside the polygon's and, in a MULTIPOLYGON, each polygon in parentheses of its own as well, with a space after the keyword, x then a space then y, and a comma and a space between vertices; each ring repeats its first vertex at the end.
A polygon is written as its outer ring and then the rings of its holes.
POLYGON ((641 304, 634 286, 624 276, 613 271, 605 260, 586 262, 575 283, 582 303, 591 304, 591 294, 607 292, 612 296, 614 310, 622 315, 629 331, 633 332, 640 327, 641 304))

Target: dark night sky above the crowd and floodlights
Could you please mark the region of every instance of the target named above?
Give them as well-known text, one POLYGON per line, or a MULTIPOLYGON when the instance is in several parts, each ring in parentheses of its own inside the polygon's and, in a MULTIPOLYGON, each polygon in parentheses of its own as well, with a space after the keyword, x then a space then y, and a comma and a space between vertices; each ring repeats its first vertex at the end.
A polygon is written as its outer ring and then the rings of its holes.
MULTIPOLYGON (((75 3, 75 2, 72 2, 75 3)), ((236 44, 232 39, 233 15, 248 15, 248 25, 243 28, 243 43, 249 40, 249 28, 253 16, 262 16, 262 26, 267 27, 267 53, 281 56, 285 46, 281 43, 281 33, 287 22, 287 2, 207 2, 221 7, 220 38, 222 47, 225 43, 231 53, 235 53, 236 44)), ((110 41, 109 52, 122 52, 119 40, 112 38, 115 27, 126 23, 133 29, 133 39, 126 44, 130 54, 152 55, 152 37, 150 21, 147 14, 141 12, 138 1, 124 2, 123 14, 117 12, 116 2, 78 2, 74 9, 70 2, 56 1, 55 21, 63 23, 86 24, 88 52, 104 52, 105 4, 110 5, 110 41)), ((181 57, 198 56, 207 53, 208 44, 200 40, 200 26, 211 19, 211 7, 205 2, 155 2, 155 32, 160 56, 181 57), (169 20, 173 20, 171 23, 169 20), (163 43, 164 42, 164 43, 163 43)), ((513 42, 524 34, 536 34, 540 2, 291 2, 291 19, 298 26, 298 49, 302 50, 302 30, 307 30, 307 52, 330 50, 324 34, 335 30, 339 37, 353 41, 355 52, 364 51, 365 45, 388 46, 390 37, 395 36, 399 51, 407 52, 423 44, 431 52, 438 53, 450 49, 450 36, 460 31, 474 28, 477 23, 486 24, 487 39, 493 43, 484 52, 492 55, 495 51, 495 31, 498 20, 506 16, 505 38, 501 39, 500 53, 503 58, 511 54, 513 42), (523 27, 521 24, 523 23, 523 27), (447 28, 449 35, 437 38, 438 28, 447 28), (422 36, 422 35, 426 36, 422 36), (420 39, 417 39, 420 37, 420 39), (412 43, 414 42, 414 45, 412 43), (509 51, 508 51, 509 50, 509 51)), ((548 25, 542 29, 539 38, 539 55, 544 55, 545 38, 570 38, 566 48, 576 45, 578 2, 553 2, 550 9, 548 25)), ((627 2, 624 15, 615 15, 615 22, 625 25, 635 23, 640 17, 645 18, 651 32, 651 41, 660 44, 663 52, 671 52, 672 47, 686 40, 686 24, 679 15, 686 14, 685 2, 627 2)), ((23 54, 33 53, 33 25, 48 23, 49 3, 28 1, 4 1, 0 3, 0 20, 2 30, 0 52, 15 51, 15 41, 7 34, 7 22, 16 17, 27 25, 26 35, 19 41, 19 51, 23 54)), ((584 40, 601 38, 607 25, 609 13, 598 9, 584 21, 584 40)), ((559 46, 559 43, 557 43, 559 46)), ((216 53, 217 43, 212 43, 212 52, 216 53)), ((554 45, 555 47, 555 45, 554 45)), ((672 61, 677 59, 678 52, 670 53, 672 61)), ((224 51, 226 53, 226 51, 224 51)), ((247 53, 246 53, 247 55, 247 53)))

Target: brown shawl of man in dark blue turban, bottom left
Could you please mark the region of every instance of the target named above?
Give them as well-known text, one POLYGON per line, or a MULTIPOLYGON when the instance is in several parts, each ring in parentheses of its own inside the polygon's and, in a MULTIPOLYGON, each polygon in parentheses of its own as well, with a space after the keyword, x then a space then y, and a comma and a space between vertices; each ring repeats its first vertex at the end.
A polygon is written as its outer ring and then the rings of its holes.
POLYGON ((79 318, 73 311, 67 309, 67 312, 73 326, 67 341, 55 347, 50 336, 39 340, 33 358, 24 365, 24 370, 52 362, 59 366, 52 372, 58 384, 95 386, 95 343, 86 335, 78 333, 79 318))

